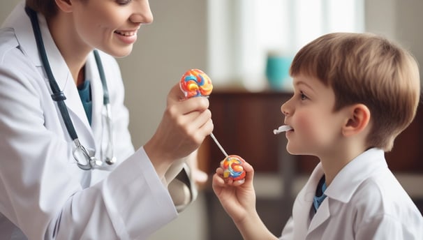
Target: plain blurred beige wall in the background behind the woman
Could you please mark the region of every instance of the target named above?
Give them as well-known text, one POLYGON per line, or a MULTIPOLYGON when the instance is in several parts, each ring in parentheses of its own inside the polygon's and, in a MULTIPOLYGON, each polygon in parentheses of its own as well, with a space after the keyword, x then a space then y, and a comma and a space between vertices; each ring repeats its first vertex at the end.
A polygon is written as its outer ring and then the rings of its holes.
MULTIPOLYGON (((0 22, 17 2, 19 0, 0 2, 0 22)), ((133 54, 119 59, 135 147, 140 147, 154 133, 165 107, 165 97, 184 71, 189 68, 207 71, 208 68, 207 0, 151 0, 150 3, 154 23, 140 29, 133 54)), ((399 41, 422 65, 423 1, 366 0, 365 6, 366 31, 399 41)), ((206 220, 200 195, 199 201, 151 240, 207 239, 206 220)))

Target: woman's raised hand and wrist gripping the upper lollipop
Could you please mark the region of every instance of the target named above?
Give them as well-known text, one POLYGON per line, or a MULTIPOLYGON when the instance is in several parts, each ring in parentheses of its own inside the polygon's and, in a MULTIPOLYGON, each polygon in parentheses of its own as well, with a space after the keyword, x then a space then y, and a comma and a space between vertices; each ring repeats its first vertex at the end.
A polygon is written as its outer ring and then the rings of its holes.
POLYGON ((179 83, 172 87, 161 123, 151 140, 144 145, 159 177, 163 177, 174 160, 198 149, 212 132, 213 122, 208 107, 208 98, 184 99, 179 83))

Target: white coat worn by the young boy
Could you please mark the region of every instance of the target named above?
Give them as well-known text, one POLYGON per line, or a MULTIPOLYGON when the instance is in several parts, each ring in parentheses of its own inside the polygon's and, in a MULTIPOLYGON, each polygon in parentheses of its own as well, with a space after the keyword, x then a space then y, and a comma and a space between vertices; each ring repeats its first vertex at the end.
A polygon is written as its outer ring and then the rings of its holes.
POLYGON ((423 239, 423 217, 388 169, 384 152, 369 149, 343 167, 312 207, 319 163, 297 195, 281 239, 423 239))

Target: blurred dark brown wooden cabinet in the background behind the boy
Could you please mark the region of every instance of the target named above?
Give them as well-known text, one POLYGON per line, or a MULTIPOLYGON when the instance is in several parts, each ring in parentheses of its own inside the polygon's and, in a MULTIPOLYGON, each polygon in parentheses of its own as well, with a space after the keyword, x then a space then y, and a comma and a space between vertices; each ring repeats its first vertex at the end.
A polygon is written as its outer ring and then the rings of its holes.
MULTIPOLYGON (((285 135, 273 130, 283 125, 281 105, 292 96, 285 92, 248 93, 214 91, 210 110, 214 135, 228 154, 242 156, 256 172, 280 172, 281 152, 285 151, 285 135)), ((394 149, 386 154, 394 172, 423 173, 423 114, 417 112, 413 123, 397 137, 394 149)), ((200 167, 209 174, 225 157, 213 140, 207 137, 202 146, 200 167)), ((292 156, 296 173, 309 174, 318 159, 312 156, 292 156)))

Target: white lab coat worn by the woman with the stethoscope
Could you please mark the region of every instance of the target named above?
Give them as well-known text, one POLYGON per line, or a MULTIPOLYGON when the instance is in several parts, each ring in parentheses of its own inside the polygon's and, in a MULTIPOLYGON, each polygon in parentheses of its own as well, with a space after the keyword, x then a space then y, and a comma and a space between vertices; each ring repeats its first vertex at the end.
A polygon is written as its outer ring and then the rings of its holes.
MULTIPOLYGON (((75 82, 38 15, 50 65, 81 143, 100 158, 103 89, 94 55, 85 66, 93 114, 87 120, 75 82)), ((59 114, 29 17, 20 3, 0 30, 0 235, 10 239, 145 239, 177 216, 144 149, 134 152, 116 61, 101 53, 112 107, 112 172, 84 171, 59 114), (20 232, 22 230, 22 232, 20 232)), ((172 176, 175 177, 175 176, 172 176)))

